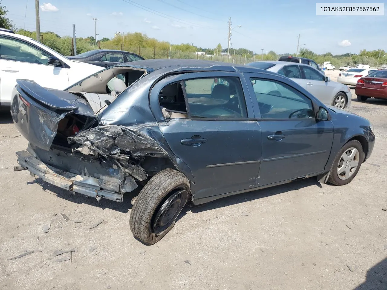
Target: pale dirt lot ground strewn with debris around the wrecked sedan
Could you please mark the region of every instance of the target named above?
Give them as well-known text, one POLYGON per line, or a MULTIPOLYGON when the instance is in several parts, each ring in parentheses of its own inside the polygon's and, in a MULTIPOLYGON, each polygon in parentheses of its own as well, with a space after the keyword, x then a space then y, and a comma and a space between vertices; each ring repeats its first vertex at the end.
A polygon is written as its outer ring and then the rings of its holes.
POLYGON ((0 289, 387 289, 387 101, 353 91, 349 111, 377 136, 350 184, 312 178, 187 207, 154 246, 130 232, 131 196, 98 203, 14 172, 27 142, 2 114, 0 289))

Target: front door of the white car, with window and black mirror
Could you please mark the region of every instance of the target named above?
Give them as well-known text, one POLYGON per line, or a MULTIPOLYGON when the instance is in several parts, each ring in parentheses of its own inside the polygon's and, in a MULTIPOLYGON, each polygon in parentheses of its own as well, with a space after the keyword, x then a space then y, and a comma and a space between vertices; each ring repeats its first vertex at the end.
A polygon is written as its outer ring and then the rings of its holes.
POLYGON ((42 87, 63 90, 68 87, 67 68, 48 64, 49 53, 31 43, 0 36, 0 101, 9 106, 18 78, 34 80, 42 87))

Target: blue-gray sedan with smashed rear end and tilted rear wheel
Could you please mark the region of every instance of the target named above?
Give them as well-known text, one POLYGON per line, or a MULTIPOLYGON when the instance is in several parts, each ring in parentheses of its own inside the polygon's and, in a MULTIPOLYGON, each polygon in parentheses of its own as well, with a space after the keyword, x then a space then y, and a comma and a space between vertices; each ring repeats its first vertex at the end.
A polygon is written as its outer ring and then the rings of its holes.
POLYGON ((35 176, 98 200, 142 188, 130 229, 145 244, 186 203, 312 176, 348 184, 375 141, 370 121, 289 78, 200 60, 118 65, 64 91, 18 80, 11 113, 29 141, 17 162, 35 176))

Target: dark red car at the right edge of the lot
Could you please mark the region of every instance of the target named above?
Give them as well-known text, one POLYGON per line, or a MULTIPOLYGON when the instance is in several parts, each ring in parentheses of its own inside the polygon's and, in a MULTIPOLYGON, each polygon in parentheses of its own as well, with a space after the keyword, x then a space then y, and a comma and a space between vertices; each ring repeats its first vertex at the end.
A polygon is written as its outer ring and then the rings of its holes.
POLYGON ((387 70, 378 70, 360 78, 355 87, 358 101, 368 98, 387 99, 387 70))

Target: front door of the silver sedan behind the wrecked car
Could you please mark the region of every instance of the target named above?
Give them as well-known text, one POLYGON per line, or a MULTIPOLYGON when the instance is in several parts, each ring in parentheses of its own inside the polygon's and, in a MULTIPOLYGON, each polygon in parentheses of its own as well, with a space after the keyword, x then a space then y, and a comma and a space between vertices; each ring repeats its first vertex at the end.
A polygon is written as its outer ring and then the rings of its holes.
POLYGON ((324 104, 331 105, 334 85, 325 82, 325 76, 312 67, 300 65, 300 70, 306 80, 307 91, 324 104))

